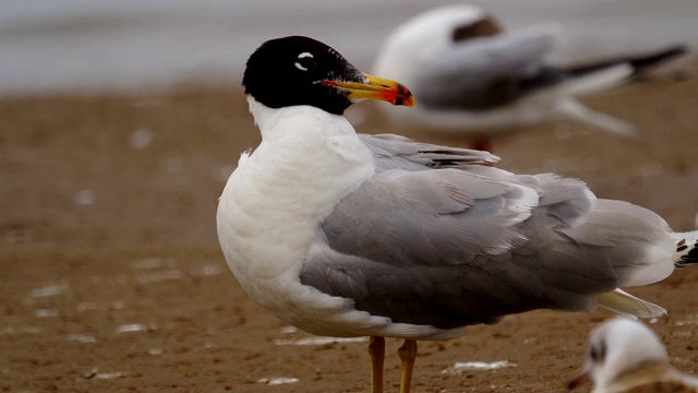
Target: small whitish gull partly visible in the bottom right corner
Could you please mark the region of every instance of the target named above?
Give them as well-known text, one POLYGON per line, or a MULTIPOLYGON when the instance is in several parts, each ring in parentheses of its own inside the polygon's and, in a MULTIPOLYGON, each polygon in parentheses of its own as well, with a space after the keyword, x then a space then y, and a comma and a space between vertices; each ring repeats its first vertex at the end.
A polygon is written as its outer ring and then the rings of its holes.
POLYGON ((617 318, 589 335, 583 371, 569 389, 591 380, 592 393, 697 393, 698 379, 682 374, 669 360, 659 336, 641 322, 617 318))

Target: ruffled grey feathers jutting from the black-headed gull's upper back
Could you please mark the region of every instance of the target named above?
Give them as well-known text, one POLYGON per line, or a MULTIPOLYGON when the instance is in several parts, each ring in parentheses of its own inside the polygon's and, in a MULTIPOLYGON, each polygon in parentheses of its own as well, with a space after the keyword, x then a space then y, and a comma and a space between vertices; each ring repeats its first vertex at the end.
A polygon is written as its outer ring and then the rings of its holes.
POLYGON ((488 152, 414 142, 395 134, 359 134, 359 138, 373 154, 378 172, 462 167, 500 160, 500 157, 488 152))

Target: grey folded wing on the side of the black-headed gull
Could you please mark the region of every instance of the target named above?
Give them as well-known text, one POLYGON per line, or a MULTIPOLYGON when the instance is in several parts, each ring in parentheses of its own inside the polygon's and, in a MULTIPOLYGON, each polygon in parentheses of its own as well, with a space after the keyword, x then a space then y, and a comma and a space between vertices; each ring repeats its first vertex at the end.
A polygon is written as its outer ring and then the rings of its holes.
POLYGON ((586 260, 592 251, 569 254, 578 245, 559 233, 582 225, 593 195, 573 180, 512 180, 456 169, 376 176, 322 225, 330 251, 304 261, 301 283, 394 322, 442 329, 593 309, 592 295, 614 289, 617 276, 599 255, 586 260), (550 242, 566 246, 547 253, 550 242))

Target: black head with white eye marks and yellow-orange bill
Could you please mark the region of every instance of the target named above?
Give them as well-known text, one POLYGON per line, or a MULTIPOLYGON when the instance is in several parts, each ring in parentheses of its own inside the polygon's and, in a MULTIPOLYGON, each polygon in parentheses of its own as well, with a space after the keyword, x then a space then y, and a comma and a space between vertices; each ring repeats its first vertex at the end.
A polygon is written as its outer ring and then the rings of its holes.
POLYGON ((310 105, 341 115, 358 98, 413 105, 405 86, 364 74, 333 48, 301 36, 262 44, 248 60, 242 85, 270 108, 310 105))

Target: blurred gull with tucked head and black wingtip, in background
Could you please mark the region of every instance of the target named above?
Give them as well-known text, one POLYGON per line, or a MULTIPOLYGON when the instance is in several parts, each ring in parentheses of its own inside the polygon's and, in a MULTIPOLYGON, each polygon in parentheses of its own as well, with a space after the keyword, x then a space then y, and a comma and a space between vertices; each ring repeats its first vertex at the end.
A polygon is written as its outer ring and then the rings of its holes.
POLYGON ((488 135, 517 126, 571 119, 616 134, 635 127, 591 110, 575 96, 597 93, 685 49, 585 64, 559 64, 552 26, 504 32, 484 9, 444 5, 395 28, 378 51, 373 72, 410 86, 414 110, 381 106, 392 124, 404 129, 469 134, 489 150, 488 135))

